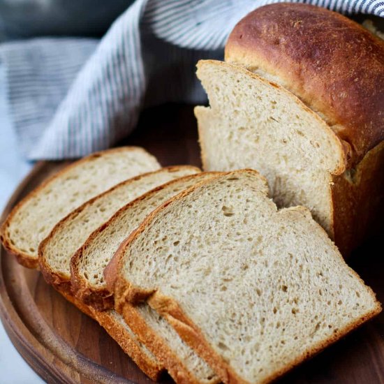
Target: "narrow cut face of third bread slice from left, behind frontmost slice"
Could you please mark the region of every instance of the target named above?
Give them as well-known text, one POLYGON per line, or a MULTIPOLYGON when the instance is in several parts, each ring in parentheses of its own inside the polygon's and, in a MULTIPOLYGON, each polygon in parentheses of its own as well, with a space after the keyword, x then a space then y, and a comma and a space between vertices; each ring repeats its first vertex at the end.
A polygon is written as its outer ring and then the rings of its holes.
MULTIPOLYGON (((103 271, 121 242, 163 202, 215 175, 216 172, 205 172, 185 176, 158 186, 121 207, 103 226, 94 230, 87 241, 75 242, 73 248, 79 249, 71 259, 71 289, 77 299, 98 310, 113 308, 113 295, 103 279, 103 271)), ((90 212, 87 216, 94 221, 97 219, 94 218, 96 214, 97 212, 90 212)), ((72 232, 77 233, 80 230, 81 221, 73 221, 71 225, 72 232)), ((68 226, 66 227, 67 230, 63 230, 63 235, 67 237, 68 226)), ((73 241, 71 243, 73 244, 73 241)), ((55 246, 52 242, 52 256, 54 252, 55 246)))

